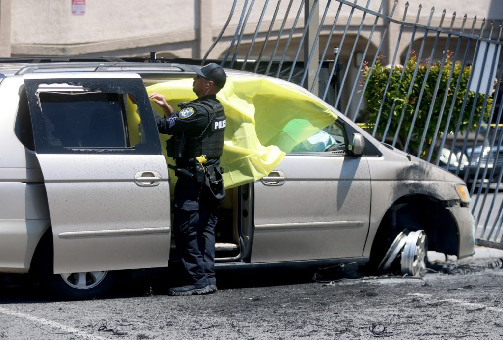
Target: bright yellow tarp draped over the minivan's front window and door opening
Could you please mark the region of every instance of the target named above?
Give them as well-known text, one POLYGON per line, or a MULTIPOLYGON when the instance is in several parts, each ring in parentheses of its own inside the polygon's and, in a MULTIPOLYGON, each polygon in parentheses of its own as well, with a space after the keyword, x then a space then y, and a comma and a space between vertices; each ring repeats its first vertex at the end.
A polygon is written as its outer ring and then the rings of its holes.
MULTIPOLYGON (((196 98, 192 79, 147 87, 163 94, 170 105, 196 98)), ((227 126, 221 166, 226 188, 267 176, 286 152, 337 119, 328 107, 289 84, 256 76, 229 76, 218 92, 227 126)), ((152 101, 154 110, 162 115, 152 101)), ((160 135, 162 146, 169 136, 160 135)), ((171 160, 172 161, 172 160, 171 160)))

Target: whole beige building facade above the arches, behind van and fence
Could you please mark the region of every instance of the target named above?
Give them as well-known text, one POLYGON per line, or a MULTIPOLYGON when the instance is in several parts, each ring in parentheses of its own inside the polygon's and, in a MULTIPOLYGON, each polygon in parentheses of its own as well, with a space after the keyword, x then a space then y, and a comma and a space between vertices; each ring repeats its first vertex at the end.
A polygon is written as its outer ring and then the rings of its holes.
MULTIPOLYGON (((326 41, 330 26, 337 14, 339 3, 331 1, 325 18, 326 25, 320 33, 320 46, 326 41)), ((248 2, 248 6, 251 2, 248 2)), ((275 41, 277 32, 282 24, 282 19, 287 11, 288 0, 283 0, 278 7, 278 14, 272 26, 270 41, 275 41), (276 35, 275 35, 276 33, 276 35)), ((353 3, 353 1, 351 1, 353 3)), ((232 36, 235 33, 244 0, 238 0, 234 15, 230 20, 219 44, 215 46, 210 58, 221 58, 227 52, 232 36)), ((248 51, 249 42, 253 37, 260 20, 265 0, 256 1, 249 14, 244 30, 239 55, 248 51)), ((270 1, 264 12, 263 22, 260 26, 256 46, 251 50, 253 58, 260 53, 262 48, 259 43, 264 41, 271 20, 273 18, 277 1, 270 1)), ((327 0, 318 2, 319 18, 323 16, 327 0)), ((378 11, 381 5, 379 0, 360 0, 359 6, 378 11)), ((406 1, 400 0, 396 6, 393 18, 403 19, 406 1)), ((422 5, 420 23, 426 24, 435 8, 431 24, 440 24, 442 10, 446 10, 443 26, 448 28, 452 14, 457 13, 454 27, 462 24, 463 15, 466 13, 468 21, 474 16, 478 22, 482 18, 501 20, 503 18, 503 1, 479 0, 409 0, 405 17, 406 21, 414 22, 418 6, 422 5)), ((233 5, 233 0, 150 0, 148 2, 135 0, 86 0, 75 2, 72 0, 0 0, 0 55, 6 56, 44 56, 44 55, 108 55, 108 56, 148 56, 156 51, 158 56, 169 58, 202 58, 211 46, 215 37, 220 33, 233 5), (85 13, 77 15, 72 13, 76 4, 85 4, 85 13)), ((289 30, 295 19, 295 12, 299 8, 300 0, 293 0, 289 19, 285 23, 285 33, 289 30)), ((390 14, 394 5, 393 0, 383 1, 383 13, 390 14)), ((338 19, 338 25, 332 37, 337 43, 338 31, 344 31, 349 16, 349 7, 344 6, 338 19), (339 24, 340 23, 340 24, 339 24)), ((349 27, 358 29, 362 19, 362 12, 355 11, 349 27)), ((369 36, 373 19, 366 19, 361 32, 362 37, 369 36)), ((297 28, 292 37, 289 49, 289 58, 292 58, 301 36, 304 24, 304 13, 300 13, 297 28), (295 44, 297 43, 297 45, 295 44), (291 51, 290 51, 291 50, 291 51), (293 55, 290 55, 292 54, 293 55)), ((376 34, 372 37, 372 47, 378 46, 380 41, 379 25, 376 34)), ((395 48, 394 40, 398 35, 398 25, 390 26, 387 42, 384 46, 391 55, 395 48)), ((407 35, 410 30, 404 31, 401 39, 402 49, 409 43, 407 35)), ((283 35, 281 40, 286 40, 283 35)), ((362 40, 365 45, 364 40, 362 40)), ((272 49, 274 43, 269 44, 272 49)), ((281 44, 280 44, 281 48, 281 44)), ((370 52, 370 51, 369 51, 370 52)), ((403 51, 400 51, 402 53, 403 51)), ((267 55, 267 53, 266 53, 267 55)), ((302 57, 302 56, 301 56, 302 57)))

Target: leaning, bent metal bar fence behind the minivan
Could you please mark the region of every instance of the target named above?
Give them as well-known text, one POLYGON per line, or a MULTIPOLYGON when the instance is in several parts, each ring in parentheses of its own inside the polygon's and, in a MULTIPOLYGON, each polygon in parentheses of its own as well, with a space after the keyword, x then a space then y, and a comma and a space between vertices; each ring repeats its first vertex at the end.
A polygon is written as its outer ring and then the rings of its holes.
POLYGON ((296 82, 378 140, 460 176, 477 243, 503 249, 501 22, 364 2, 235 0, 204 59, 227 44, 222 65, 296 82))

